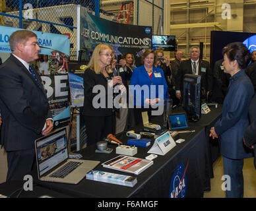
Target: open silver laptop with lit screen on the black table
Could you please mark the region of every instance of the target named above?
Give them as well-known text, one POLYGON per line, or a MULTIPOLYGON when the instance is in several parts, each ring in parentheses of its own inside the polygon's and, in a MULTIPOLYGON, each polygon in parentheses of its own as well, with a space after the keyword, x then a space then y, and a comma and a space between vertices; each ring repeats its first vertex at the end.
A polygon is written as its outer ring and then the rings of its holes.
POLYGON ((35 140, 38 179, 58 183, 79 183, 98 164, 94 160, 69 159, 66 129, 35 140))

